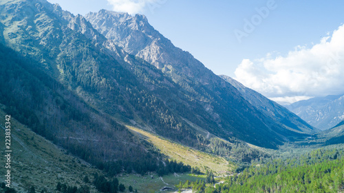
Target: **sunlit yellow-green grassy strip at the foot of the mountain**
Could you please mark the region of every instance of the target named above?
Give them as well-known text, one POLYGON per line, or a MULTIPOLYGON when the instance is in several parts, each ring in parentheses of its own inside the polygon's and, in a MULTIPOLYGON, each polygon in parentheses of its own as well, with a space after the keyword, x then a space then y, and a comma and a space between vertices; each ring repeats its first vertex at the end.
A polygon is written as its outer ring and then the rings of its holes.
POLYGON ((176 144, 133 126, 127 126, 127 128, 141 135, 141 137, 147 137, 147 141, 151 142, 162 154, 168 156, 170 159, 182 161, 193 167, 197 166, 203 171, 208 168, 216 173, 221 173, 230 169, 228 168, 228 161, 222 157, 215 157, 208 153, 176 144))

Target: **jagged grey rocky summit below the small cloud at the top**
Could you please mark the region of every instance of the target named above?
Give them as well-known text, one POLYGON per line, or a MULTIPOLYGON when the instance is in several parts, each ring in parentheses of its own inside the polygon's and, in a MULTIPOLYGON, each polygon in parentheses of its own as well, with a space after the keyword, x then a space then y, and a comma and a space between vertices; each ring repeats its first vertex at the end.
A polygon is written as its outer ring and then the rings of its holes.
POLYGON ((202 72, 207 73, 202 73, 198 80, 201 82, 206 80, 204 75, 214 75, 189 52, 175 47, 169 39, 155 30, 144 15, 130 16, 102 10, 98 13, 89 13, 85 18, 98 32, 116 42, 126 52, 143 58, 158 69, 178 69, 190 77, 198 77, 198 69, 202 69, 202 72))

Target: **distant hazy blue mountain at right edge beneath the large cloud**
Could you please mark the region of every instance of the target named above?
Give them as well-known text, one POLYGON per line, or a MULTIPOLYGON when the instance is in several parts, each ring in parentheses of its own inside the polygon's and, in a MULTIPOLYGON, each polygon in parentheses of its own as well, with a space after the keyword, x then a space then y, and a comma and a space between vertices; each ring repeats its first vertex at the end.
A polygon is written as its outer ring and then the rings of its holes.
POLYGON ((327 95, 301 100, 286 106, 308 124, 326 130, 344 119, 344 95, 327 95))

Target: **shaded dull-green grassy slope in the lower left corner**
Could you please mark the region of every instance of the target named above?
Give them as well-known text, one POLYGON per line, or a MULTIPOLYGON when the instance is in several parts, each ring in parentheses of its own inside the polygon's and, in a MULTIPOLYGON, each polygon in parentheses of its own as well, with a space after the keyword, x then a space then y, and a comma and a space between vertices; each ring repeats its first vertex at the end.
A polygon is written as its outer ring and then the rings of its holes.
MULTIPOLYGON (((1 108, 2 109, 2 108, 1 108)), ((0 110, 0 149, 1 155, 5 150, 5 113, 0 110)), ((71 155, 67 155, 50 141, 36 135, 11 117, 11 176, 12 187, 19 192, 27 192, 31 185, 36 192, 47 188, 48 192, 55 192, 58 181, 67 185, 83 185, 83 178, 87 175, 93 179, 93 173, 98 172, 88 163, 71 155)), ((4 157, 1 163, 5 163, 4 157)), ((1 164, 2 165, 2 164, 1 164)), ((0 168, 0 181, 4 181, 5 165, 0 168)), ((93 192, 97 192, 89 185, 93 192)))

